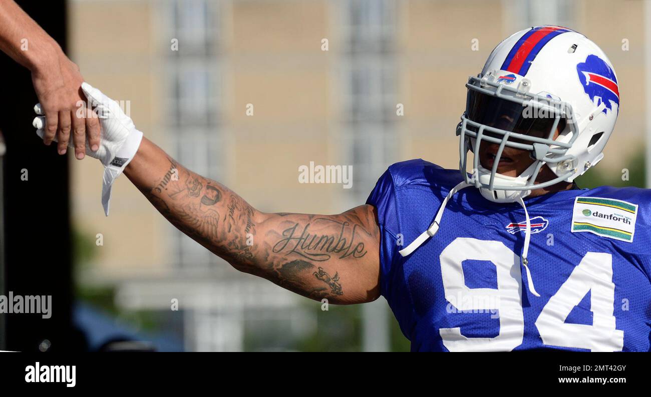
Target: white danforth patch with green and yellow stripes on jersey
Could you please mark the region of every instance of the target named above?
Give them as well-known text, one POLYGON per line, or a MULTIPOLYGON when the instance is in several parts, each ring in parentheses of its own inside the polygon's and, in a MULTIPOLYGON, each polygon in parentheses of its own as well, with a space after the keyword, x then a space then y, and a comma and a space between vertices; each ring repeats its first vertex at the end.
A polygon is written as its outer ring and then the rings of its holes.
POLYGON ((572 233, 587 231, 601 237, 633 242, 637 204, 628 201, 577 197, 572 210, 572 233))

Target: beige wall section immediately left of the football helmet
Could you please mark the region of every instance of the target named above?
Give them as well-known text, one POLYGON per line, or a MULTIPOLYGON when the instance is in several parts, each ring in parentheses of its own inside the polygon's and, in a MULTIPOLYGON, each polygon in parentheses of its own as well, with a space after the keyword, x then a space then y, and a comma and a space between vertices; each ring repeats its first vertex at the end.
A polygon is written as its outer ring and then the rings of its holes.
MULTIPOLYGON (((498 3, 499 4, 499 3, 498 3)), ((403 158, 421 157, 458 168, 456 125, 465 109, 469 75, 481 71, 503 40, 501 13, 490 1, 406 1, 401 11, 402 91, 405 116, 403 158), (491 23, 486 15, 492 14, 491 23), (477 38, 478 51, 471 40, 477 38)))

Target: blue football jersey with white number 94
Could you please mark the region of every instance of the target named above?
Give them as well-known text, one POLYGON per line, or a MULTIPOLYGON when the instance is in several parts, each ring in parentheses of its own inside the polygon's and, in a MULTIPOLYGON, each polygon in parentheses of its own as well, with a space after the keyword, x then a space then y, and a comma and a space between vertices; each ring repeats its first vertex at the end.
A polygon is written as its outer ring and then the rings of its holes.
POLYGON ((577 189, 525 199, 525 212, 467 187, 410 255, 458 170, 393 164, 367 203, 381 230, 380 288, 413 351, 650 350, 651 191, 577 189))

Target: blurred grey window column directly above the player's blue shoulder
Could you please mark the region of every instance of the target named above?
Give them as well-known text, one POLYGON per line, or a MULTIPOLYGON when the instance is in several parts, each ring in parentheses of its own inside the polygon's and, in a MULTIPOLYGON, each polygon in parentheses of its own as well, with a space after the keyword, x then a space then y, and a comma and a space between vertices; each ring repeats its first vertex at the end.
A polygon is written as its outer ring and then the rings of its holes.
POLYGON ((348 0, 342 7, 344 147, 353 201, 366 199, 396 153, 396 2, 348 0))

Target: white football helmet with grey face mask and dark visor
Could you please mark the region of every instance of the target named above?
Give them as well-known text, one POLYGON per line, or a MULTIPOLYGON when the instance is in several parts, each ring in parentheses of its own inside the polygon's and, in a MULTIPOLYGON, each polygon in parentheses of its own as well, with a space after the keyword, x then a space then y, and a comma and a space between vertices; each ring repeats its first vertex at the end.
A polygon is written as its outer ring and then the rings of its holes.
POLYGON ((603 158, 619 110, 610 60, 583 34, 558 26, 506 38, 465 86, 466 109, 456 131, 460 171, 466 183, 496 202, 516 201, 532 189, 583 175, 603 158), (478 160, 483 142, 499 145, 492 170, 478 160), (535 161, 517 177, 501 175, 496 170, 504 147, 525 149, 535 161), (471 175, 468 151, 475 153, 471 175), (534 185, 545 164, 557 177, 534 185))

